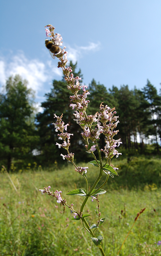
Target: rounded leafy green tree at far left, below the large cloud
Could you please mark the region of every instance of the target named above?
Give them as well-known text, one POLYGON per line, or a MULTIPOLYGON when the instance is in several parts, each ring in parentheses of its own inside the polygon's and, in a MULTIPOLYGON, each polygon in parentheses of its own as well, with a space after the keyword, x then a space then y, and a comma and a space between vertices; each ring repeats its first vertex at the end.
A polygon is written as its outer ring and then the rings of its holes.
MULTIPOLYGON (((18 75, 9 77, 6 93, 0 94, 0 162, 11 169, 11 164, 32 158, 38 142, 34 125, 33 92, 18 75)), ((34 162, 34 161, 33 161, 34 162)))

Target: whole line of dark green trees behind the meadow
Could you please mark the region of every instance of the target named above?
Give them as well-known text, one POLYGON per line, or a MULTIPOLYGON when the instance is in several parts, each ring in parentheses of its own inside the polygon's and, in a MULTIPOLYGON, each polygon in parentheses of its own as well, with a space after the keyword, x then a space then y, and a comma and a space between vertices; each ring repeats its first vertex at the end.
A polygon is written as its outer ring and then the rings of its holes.
MULTIPOLYGON (((70 62, 73 75, 83 78, 77 63, 70 62)), ((83 79, 82 79, 83 80, 83 79)), ((154 143, 154 154, 160 154, 161 141, 161 94, 147 80, 142 89, 129 90, 128 85, 118 89, 115 86, 108 89, 94 79, 88 86, 90 101, 87 114, 99 111, 101 102, 109 107, 116 107, 120 123, 118 138, 121 138, 122 148, 145 153, 147 144, 154 143), (140 141, 138 141, 138 137, 140 141)), ((41 166, 53 166, 61 163, 60 154, 66 154, 65 149, 58 149, 57 132, 52 125, 53 114, 60 116, 69 124, 68 132, 73 133, 70 152, 75 154, 76 161, 89 161, 90 154, 85 152, 81 128, 73 121, 70 92, 66 88, 64 78, 54 80, 51 91, 45 94, 46 100, 41 103, 43 113, 34 109, 34 94, 27 88, 27 81, 19 75, 9 77, 3 92, 0 93, 0 164, 8 170, 25 168, 28 163, 38 163, 41 166)), ((104 139, 100 137, 99 144, 104 147, 104 139)))

